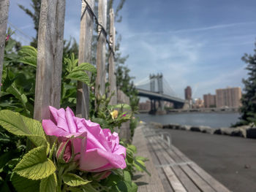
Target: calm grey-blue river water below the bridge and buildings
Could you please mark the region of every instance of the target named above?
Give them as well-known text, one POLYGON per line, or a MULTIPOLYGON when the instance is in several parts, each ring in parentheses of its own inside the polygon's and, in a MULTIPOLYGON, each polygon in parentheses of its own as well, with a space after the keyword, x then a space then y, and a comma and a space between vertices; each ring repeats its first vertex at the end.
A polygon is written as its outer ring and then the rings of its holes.
POLYGON ((138 114, 140 120, 145 122, 158 122, 162 124, 177 123, 189 126, 210 126, 211 128, 229 127, 238 121, 238 112, 189 112, 172 113, 167 115, 138 114))

